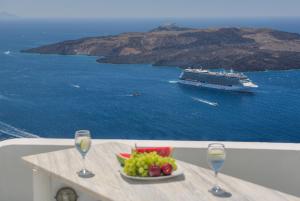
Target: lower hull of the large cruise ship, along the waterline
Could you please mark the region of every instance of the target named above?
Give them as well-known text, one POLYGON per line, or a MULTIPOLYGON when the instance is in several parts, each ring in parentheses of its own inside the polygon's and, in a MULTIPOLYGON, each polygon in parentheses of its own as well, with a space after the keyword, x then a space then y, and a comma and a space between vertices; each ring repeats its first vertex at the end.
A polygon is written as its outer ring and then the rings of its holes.
POLYGON ((218 90, 225 90, 225 91, 239 91, 239 92, 253 92, 256 88, 256 87, 246 87, 242 85, 224 86, 224 85, 208 84, 208 83, 201 83, 201 82, 189 81, 189 80, 179 80, 178 83, 184 85, 196 86, 196 87, 218 89, 218 90))

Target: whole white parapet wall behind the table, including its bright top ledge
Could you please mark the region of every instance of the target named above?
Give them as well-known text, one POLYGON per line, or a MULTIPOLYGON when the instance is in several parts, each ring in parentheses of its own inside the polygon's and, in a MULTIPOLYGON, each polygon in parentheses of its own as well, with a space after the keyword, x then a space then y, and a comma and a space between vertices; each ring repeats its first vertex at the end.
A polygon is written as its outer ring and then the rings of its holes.
MULTIPOLYGON (((113 140, 94 140, 94 144, 113 140)), ((209 142, 118 140, 139 146, 176 147, 177 159, 208 168, 209 142)), ((300 197, 300 145, 224 142, 227 159, 223 173, 300 197)), ((73 146, 73 140, 14 139, 0 142, 0 200, 32 201, 32 170, 21 157, 73 146)), ((57 182, 56 189, 63 184, 57 182)), ((55 195, 53 195, 54 197, 55 195)))

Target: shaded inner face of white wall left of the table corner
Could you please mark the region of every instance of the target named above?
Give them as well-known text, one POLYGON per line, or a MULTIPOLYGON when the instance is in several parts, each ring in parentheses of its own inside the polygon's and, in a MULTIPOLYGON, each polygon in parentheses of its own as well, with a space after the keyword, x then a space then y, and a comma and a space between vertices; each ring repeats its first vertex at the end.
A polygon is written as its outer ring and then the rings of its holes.
POLYGON ((66 146, 10 145, 0 148, 0 200, 32 201, 32 171, 22 156, 66 148, 66 146))

